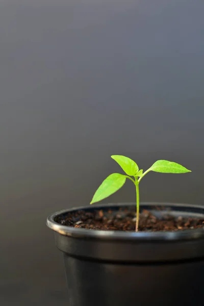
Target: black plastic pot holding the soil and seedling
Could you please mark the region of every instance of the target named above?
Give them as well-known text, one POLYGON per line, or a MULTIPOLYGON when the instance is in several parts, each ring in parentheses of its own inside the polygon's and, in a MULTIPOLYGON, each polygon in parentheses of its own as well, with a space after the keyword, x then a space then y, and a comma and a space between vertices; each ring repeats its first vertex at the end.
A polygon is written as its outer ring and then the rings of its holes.
MULTIPOLYGON (((85 210, 131 204, 96 205, 85 210)), ((153 213, 156 203, 142 203, 153 213)), ((176 216, 204 217, 204 207, 162 204, 176 216)), ((158 205, 157 205, 158 207, 158 205)), ((78 208, 79 209, 79 208, 78 208)), ((204 305, 204 229, 177 232, 95 231, 47 218, 63 252, 70 306, 204 305)))

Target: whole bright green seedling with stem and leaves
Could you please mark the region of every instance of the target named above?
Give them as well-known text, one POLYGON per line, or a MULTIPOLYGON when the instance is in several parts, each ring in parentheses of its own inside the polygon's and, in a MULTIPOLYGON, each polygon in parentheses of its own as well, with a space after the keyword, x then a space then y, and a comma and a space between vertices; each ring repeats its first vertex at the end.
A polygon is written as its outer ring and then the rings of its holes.
POLYGON ((104 182, 98 187, 94 196, 90 202, 93 204, 99 202, 111 194, 119 190, 125 183, 126 179, 133 182, 136 188, 136 200, 137 200, 137 214, 136 214, 136 232, 138 232, 139 226, 139 209, 140 209, 140 193, 139 193, 139 183, 142 178, 149 172, 161 172, 161 173, 186 173, 191 172, 180 164, 169 162, 165 160, 159 160, 155 162, 149 169, 144 173, 143 170, 139 170, 138 165, 130 158, 122 155, 112 155, 114 159, 122 168, 122 170, 127 174, 113 173, 110 174, 104 182))

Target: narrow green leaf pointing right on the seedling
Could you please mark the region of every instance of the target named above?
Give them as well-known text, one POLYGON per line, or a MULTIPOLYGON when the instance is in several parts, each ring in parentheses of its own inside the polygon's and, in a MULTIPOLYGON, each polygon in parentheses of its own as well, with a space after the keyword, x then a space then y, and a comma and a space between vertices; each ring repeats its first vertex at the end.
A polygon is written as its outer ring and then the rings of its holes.
POLYGON ((180 164, 159 160, 155 162, 150 168, 149 171, 161 172, 161 173, 186 173, 191 172, 191 170, 186 169, 180 164))

